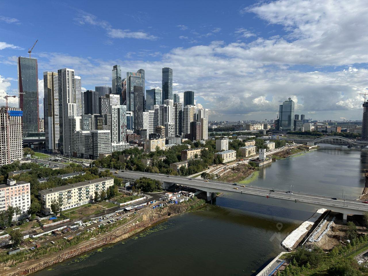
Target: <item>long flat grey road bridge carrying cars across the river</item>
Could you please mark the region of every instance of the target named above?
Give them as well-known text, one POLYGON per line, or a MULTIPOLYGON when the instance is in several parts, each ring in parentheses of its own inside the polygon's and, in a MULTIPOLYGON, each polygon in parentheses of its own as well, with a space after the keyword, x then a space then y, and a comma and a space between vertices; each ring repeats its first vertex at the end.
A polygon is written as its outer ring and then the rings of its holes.
MULTIPOLYGON (((100 169, 101 171, 105 169, 100 169)), ((347 214, 363 215, 364 212, 368 212, 368 204, 351 198, 336 197, 332 199, 328 195, 318 195, 307 192, 288 193, 287 190, 272 189, 266 187, 258 187, 253 185, 247 185, 241 187, 241 184, 233 185, 232 183, 226 183, 216 180, 204 180, 187 178, 183 176, 171 176, 166 174, 156 173, 144 173, 140 171, 129 170, 111 170, 114 176, 122 178, 125 182, 134 183, 135 180, 141 177, 148 177, 154 180, 158 180, 162 183, 163 187, 170 187, 173 184, 182 185, 186 187, 195 188, 207 192, 207 200, 210 201, 216 197, 216 192, 235 192, 242 195, 256 195, 260 197, 277 198, 282 200, 294 201, 296 203, 302 202, 308 205, 316 206, 318 208, 326 208, 335 212, 343 214, 343 220, 346 222, 347 214)))

